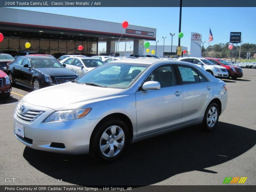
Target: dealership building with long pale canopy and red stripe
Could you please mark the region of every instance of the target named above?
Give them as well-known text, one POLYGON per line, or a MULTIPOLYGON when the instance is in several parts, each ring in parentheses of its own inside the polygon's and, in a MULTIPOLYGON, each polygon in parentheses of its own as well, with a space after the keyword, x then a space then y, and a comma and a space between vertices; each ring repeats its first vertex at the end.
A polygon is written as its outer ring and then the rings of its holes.
POLYGON ((98 55, 98 43, 107 43, 106 53, 116 53, 116 42, 133 41, 133 53, 143 54, 144 41, 156 40, 156 29, 121 23, 0 7, 0 52, 20 50, 98 55), (25 43, 31 47, 25 49, 25 43), (83 45, 82 51, 77 50, 83 45))

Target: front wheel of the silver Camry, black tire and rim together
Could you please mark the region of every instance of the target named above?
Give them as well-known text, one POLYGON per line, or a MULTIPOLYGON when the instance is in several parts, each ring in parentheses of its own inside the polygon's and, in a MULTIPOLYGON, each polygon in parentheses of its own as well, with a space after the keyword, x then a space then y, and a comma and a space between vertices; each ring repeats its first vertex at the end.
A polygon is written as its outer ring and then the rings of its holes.
POLYGON ((104 163, 113 162, 122 155, 128 142, 127 125, 119 119, 107 119, 92 132, 89 155, 104 163))

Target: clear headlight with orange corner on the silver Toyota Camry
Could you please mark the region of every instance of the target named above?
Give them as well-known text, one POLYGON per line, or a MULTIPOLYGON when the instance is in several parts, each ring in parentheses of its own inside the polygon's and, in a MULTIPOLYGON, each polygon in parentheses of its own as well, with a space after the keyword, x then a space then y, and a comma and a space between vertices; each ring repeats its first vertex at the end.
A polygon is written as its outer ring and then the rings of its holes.
POLYGON ((91 110, 92 108, 55 111, 44 120, 44 123, 79 119, 85 117, 91 110))

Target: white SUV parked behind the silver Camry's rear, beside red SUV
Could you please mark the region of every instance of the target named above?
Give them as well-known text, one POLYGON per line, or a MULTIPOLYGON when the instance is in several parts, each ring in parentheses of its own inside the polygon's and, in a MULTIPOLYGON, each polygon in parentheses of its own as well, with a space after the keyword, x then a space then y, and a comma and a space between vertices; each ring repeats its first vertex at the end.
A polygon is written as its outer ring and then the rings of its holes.
POLYGON ((201 68, 203 68, 208 73, 212 74, 215 77, 228 77, 228 71, 226 68, 215 65, 211 61, 204 59, 204 58, 198 58, 198 57, 181 57, 178 59, 179 61, 186 61, 189 63, 193 63, 201 68))

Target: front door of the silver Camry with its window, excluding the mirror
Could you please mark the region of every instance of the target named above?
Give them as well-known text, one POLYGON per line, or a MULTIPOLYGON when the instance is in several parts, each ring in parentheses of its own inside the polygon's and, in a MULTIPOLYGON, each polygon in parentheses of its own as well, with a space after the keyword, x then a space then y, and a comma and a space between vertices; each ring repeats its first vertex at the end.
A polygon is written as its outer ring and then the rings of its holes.
POLYGON ((135 93, 137 136, 162 131, 181 123, 183 91, 177 84, 171 64, 157 67, 143 82, 157 81, 160 90, 142 90, 135 93))

